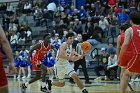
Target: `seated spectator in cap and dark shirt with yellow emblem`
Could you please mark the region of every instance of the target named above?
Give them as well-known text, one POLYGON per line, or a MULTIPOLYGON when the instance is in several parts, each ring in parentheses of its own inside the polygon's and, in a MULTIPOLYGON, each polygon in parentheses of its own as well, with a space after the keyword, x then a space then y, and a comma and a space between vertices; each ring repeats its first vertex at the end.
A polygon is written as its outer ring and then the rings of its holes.
POLYGON ((108 64, 109 55, 107 54, 105 48, 101 48, 101 52, 102 52, 102 54, 100 55, 101 61, 100 61, 99 65, 96 65, 94 68, 95 73, 97 75, 97 78, 95 80, 100 79, 100 76, 101 76, 100 71, 104 71, 105 77, 107 77, 107 64, 108 64))

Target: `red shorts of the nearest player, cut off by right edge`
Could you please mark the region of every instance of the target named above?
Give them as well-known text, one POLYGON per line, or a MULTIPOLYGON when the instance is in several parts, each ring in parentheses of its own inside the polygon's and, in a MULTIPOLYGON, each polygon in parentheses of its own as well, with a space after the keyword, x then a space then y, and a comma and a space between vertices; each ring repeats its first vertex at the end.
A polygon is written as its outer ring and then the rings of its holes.
POLYGON ((130 72, 140 73, 140 54, 134 55, 127 65, 130 72))

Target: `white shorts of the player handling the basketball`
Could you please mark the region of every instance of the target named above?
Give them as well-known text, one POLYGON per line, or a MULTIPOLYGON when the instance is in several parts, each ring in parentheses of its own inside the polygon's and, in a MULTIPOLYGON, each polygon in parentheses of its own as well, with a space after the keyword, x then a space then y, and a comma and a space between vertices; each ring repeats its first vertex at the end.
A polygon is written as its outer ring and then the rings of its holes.
POLYGON ((59 80, 64 80, 65 75, 72 76, 72 74, 75 74, 75 70, 73 69, 73 66, 68 63, 67 65, 55 65, 55 74, 58 77, 59 80))

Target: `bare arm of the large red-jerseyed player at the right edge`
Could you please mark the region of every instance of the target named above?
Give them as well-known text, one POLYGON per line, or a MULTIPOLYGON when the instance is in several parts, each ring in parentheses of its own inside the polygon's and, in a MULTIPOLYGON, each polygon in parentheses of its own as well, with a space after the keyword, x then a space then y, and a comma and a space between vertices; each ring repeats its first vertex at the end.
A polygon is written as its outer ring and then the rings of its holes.
POLYGON ((119 54, 119 59, 121 59, 122 57, 122 54, 124 53, 124 51, 126 50, 131 38, 132 38, 132 29, 131 28, 128 28, 126 31, 125 31, 125 38, 124 38, 124 43, 121 47, 121 50, 120 50, 120 54, 119 54))

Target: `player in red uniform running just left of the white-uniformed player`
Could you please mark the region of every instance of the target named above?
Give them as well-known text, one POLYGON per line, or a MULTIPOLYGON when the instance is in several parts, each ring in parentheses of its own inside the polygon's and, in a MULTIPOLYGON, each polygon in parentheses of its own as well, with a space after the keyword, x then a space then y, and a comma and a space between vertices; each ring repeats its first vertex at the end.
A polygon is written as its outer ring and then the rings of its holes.
POLYGON ((32 52, 36 50, 35 54, 32 57, 32 70, 35 72, 35 77, 31 79, 30 81, 23 83, 21 85, 21 91, 25 92, 27 86, 39 79, 41 79, 41 73, 42 73, 42 85, 41 85, 41 91, 47 92, 48 89, 46 87, 46 71, 47 68, 45 65, 42 64, 42 60, 45 58, 46 54, 53 48, 53 46, 50 45, 50 34, 45 34, 43 37, 43 41, 40 41, 38 44, 33 46, 30 49, 29 56, 28 56, 28 63, 30 63, 30 55, 32 55, 32 52))

